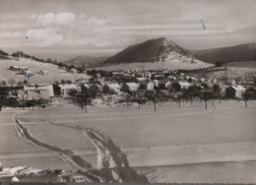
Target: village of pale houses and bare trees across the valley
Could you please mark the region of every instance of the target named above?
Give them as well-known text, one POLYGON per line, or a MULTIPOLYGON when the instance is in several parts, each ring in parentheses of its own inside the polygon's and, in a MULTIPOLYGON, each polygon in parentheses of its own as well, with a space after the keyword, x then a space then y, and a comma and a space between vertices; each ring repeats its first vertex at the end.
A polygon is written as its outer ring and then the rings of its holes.
MULTIPOLYGON (((72 74, 81 73, 81 69, 61 68, 72 74)), ((101 71, 87 70, 90 79, 55 81, 51 84, 30 83, 33 73, 28 67, 10 66, 11 71, 28 78, 24 82, 1 82, 0 107, 45 108, 52 101, 66 100, 82 108, 91 106, 137 105, 160 101, 207 102, 219 99, 255 99, 255 76, 243 77, 228 73, 225 68, 210 68, 194 71, 101 71), (216 70, 218 73, 216 73, 216 70), (228 77, 229 74, 229 77, 228 77), (231 74, 231 76, 230 76, 231 74)), ((46 75, 47 71, 39 71, 46 75)), ((178 103, 180 106, 180 103, 178 103)), ((155 108, 156 111, 156 108, 155 108)))

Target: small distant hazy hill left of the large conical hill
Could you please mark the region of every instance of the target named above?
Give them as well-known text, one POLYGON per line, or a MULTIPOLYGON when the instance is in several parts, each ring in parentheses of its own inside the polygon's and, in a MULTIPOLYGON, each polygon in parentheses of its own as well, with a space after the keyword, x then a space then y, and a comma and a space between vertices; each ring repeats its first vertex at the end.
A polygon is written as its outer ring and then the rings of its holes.
POLYGON ((100 66, 106 58, 107 57, 92 57, 80 55, 63 63, 67 66, 74 65, 75 67, 82 67, 84 65, 85 67, 93 68, 100 66))

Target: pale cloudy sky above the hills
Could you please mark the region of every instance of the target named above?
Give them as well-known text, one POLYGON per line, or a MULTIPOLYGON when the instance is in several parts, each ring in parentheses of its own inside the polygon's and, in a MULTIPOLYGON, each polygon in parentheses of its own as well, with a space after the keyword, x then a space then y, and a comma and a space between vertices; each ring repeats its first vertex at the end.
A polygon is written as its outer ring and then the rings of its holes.
POLYGON ((0 0, 0 49, 65 61, 157 37, 188 49, 252 43, 255 10, 256 0, 0 0))

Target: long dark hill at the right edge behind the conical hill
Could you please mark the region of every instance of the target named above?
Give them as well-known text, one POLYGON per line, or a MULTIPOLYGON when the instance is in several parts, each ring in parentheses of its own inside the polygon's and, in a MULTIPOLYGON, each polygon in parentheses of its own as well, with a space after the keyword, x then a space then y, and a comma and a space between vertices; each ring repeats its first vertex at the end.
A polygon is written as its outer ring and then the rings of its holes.
POLYGON ((240 44, 192 52, 196 58, 211 64, 252 61, 256 59, 256 43, 240 44))

